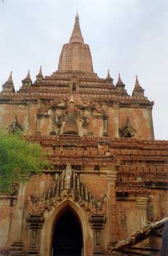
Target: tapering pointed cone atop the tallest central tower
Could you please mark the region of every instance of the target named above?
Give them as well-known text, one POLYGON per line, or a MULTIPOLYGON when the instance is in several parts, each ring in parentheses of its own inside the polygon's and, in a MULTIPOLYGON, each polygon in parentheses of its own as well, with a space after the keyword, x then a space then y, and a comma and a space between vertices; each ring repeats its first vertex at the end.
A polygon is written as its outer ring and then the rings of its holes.
POLYGON ((73 32, 71 34, 71 38, 70 38, 69 42, 70 43, 72 43, 72 42, 84 43, 84 39, 82 37, 81 29, 80 29, 80 25, 79 25, 79 13, 78 13, 78 10, 76 12, 75 24, 74 24, 73 32))

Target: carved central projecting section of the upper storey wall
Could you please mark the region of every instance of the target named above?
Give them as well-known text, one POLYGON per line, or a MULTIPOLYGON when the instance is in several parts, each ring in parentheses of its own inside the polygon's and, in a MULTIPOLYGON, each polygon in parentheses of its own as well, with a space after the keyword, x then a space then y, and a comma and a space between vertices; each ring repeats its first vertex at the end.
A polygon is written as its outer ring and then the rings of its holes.
POLYGON ((94 121, 98 118, 101 124, 97 127, 97 136, 108 136, 108 115, 106 112, 107 107, 99 101, 95 105, 90 104, 90 102, 84 102, 84 105, 75 105, 73 97, 71 97, 69 102, 64 100, 47 102, 40 105, 37 111, 36 132, 41 132, 43 118, 51 118, 49 123, 51 135, 93 136, 95 124, 92 124, 91 119, 94 121))

